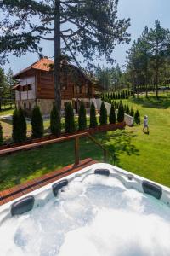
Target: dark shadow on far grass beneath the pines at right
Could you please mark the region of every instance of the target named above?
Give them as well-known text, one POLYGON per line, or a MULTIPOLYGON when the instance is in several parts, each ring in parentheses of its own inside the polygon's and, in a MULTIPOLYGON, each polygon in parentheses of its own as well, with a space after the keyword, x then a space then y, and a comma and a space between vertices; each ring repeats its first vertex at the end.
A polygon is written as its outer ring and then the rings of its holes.
POLYGON ((141 105, 144 108, 162 108, 167 109, 170 107, 170 97, 160 96, 156 99, 155 96, 150 96, 148 98, 131 98, 131 102, 141 105))

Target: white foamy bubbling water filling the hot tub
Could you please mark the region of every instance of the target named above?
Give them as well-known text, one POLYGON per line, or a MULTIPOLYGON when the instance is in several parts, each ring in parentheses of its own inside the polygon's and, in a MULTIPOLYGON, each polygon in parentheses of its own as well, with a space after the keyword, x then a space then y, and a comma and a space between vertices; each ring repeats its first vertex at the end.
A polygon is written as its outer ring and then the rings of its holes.
POLYGON ((0 227, 2 256, 169 256, 169 241, 169 207, 100 176, 0 227))

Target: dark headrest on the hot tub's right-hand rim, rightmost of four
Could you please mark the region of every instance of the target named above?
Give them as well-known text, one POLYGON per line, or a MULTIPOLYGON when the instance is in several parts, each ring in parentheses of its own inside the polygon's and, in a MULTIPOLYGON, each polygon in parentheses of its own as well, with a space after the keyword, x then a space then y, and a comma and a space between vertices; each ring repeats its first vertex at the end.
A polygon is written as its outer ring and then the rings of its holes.
POLYGON ((144 189, 144 193, 152 195, 157 199, 161 198, 162 188, 154 183, 150 183, 148 181, 143 181, 142 187, 144 189))

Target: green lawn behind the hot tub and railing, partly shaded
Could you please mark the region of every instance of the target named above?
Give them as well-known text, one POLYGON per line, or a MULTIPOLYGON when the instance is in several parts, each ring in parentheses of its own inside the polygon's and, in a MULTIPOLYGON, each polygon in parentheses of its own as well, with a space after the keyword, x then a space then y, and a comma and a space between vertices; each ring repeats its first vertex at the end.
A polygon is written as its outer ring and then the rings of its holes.
MULTIPOLYGON (((95 137, 116 152, 116 166, 170 187, 170 96, 161 95, 158 102, 152 96, 148 100, 144 97, 124 100, 127 102, 129 107, 139 109, 142 119, 144 114, 149 116, 150 134, 144 134, 143 125, 138 125, 95 137)), ((73 145, 73 142, 59 143, 0 158, 0 190, 73 163, 73 145)), ((81 158, 86 157, 102 161, 103 153, 84 138, 81 158)))

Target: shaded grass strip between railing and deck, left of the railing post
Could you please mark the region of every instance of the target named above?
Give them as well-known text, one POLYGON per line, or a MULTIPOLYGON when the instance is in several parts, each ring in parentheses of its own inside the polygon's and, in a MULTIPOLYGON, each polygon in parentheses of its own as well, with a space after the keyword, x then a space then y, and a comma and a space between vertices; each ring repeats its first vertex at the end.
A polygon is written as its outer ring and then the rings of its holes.
POLYGON ((40 177, 74 162, 73 142, 0 157, 0 190, 40 177))

